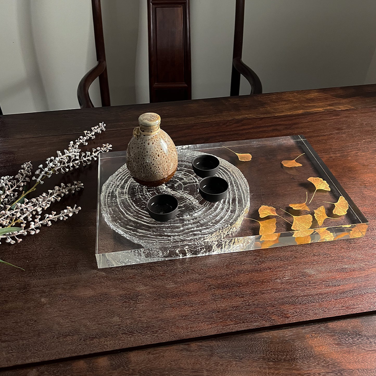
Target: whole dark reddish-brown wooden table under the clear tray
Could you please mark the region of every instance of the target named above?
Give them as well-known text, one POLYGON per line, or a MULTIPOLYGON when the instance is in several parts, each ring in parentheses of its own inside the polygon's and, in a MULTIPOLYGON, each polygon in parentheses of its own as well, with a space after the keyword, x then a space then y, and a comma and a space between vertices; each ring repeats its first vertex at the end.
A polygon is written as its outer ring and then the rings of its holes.
MULTIPOLYGON (((376 85, 5 115, 2 175, 105 121, 124 150, 158 112, 177 145, 303 134, 370 221, 364 238, 97 269, 97 165, 54 176, 82 207, 0 257, 4 375, 376 374, 376 85)), ((45 187, 45 186, 44 186, 45 187)))

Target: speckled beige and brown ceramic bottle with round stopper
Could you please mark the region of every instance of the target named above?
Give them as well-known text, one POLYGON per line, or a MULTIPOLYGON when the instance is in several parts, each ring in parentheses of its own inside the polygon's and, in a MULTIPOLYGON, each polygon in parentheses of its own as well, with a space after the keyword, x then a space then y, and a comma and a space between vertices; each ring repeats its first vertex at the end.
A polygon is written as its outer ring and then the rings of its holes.
POLYGON ((161 117, 147 112, 138 118, 139 126, 127 148, 127 167, 136 182, 158 186, 168 182, 177 168, 176 146, 170 136, 160 129, 161 117))

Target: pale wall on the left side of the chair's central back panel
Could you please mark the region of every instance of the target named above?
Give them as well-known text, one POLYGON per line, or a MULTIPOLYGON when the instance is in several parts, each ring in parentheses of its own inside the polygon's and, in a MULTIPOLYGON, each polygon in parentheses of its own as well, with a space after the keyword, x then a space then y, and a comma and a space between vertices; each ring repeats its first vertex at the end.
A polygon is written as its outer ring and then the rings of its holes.
MULTIPOLYGON (((146 15, 145 1, 102 0, 112 105, 148 101, 146 15)), ((91 1, 0 0, 0 52, 4 114, 79 108, 77 85, 97 62, 91 1)), ((97 82, 90 96, 99 106, 97 82)))

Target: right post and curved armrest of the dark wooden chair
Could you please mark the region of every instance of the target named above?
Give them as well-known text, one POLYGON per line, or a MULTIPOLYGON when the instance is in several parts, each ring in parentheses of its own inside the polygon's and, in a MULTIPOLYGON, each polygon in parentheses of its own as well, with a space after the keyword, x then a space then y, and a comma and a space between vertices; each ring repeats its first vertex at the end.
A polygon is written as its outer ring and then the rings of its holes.
POLYGON ((242 74, 251 85, 250 94, 261 94, 262 85, 258 75, 241 59, 243 50, 244 29, 244 0, 236 0, 235 6, 235 31, 232 53, 232 72, 230 96, 238 96, 240 89, 240 75, 242 74))

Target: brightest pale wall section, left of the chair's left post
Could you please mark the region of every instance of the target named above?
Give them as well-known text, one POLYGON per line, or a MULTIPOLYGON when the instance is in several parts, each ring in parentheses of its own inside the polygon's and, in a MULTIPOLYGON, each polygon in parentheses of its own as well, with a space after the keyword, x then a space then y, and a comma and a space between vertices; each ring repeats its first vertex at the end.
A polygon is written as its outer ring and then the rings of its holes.
POLYGON ((0 51, 5 114, 77 108, 77 85, 96 62, 89 2, 0 0, 0 51))

